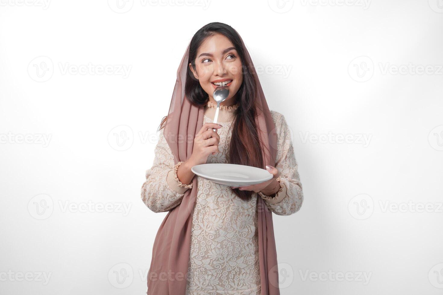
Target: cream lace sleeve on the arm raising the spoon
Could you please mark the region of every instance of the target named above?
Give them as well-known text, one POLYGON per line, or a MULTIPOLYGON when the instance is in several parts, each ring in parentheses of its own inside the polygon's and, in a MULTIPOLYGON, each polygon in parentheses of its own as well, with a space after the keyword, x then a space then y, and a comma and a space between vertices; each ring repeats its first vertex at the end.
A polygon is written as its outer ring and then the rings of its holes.
MULTIPOLYGON (((141 199, 153 212, 169 211, 183 199, 191 184, 183 184, 177 176, 177 170, 187 162, 174 165, 174 155, 166 142, 163 130, 160 130, 159 142, 155 146, 155 159, 151 169, 146 171, 146 181, 141 187, 141 199)), ((181 169, 185 166, 181 167, 181 169)))

